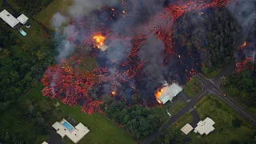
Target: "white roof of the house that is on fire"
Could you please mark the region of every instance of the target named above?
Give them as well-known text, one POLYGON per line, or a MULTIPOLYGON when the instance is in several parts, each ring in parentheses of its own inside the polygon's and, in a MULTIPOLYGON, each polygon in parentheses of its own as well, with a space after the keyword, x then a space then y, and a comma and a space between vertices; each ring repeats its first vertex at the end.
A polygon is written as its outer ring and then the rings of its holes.
POLYGON ((166 86, 163 88, 163 92, 161 96, 158 98, 162 104, 168 102, 168 100, 172 101, 173 98, 182 91, 182 87, 178 86, 176 83, 171 84, 170 86, 166 86))

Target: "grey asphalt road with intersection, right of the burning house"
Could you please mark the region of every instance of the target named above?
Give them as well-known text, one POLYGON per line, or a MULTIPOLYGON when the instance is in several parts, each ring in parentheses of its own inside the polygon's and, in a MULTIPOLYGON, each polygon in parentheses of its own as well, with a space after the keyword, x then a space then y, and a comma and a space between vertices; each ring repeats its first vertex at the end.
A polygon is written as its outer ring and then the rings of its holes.
MULTIPOLYGON (((228 76, 229 74, 231 74, 234 71, 234 64, 231 64, 229 67, 226 68, 226 70, 224 70, 221 74, 218 74, 218 76, 216 78, 213 79, 207 79, 204 78, 202 76, 202 74, 195 74, 193 77, 197 78, 198 81, 202 82, 202 91, 193 99, 190 100, 190 102, 186 103, 186 106, 182 108, 182 110, 178 111, 177 114, 173 115, 172 117, 170 117, 170 120, 168 122, 166 122, 163 126, 162 126, 162 130, 166 130, 170 128, 170 125, 173 124, 175 121, 178 120, 178 118, 180 118, 183 114, 185 114, 186 112, 190 111, 191 108, 193 108, 193 106, 195 106, 195 104, 204 96, 206 96, 207 94, 217 94, 219 98, 221 98, 224 102, 226 102, 230 108, 232 110, 234 110, 235 112, 237 112, 242 118, 247 119, 251 124, 253 124, 254 126, 256 126, 256 118, 254 117, 254 115, 248 113, 244 108, 242 108, 242 106, 239 106, 238 103, 234 102, 234 100, 232 98, 230 98, 229 96, 223 96, 221 94, 221 90, 219 88, 220 86, 220 78, 224 75, 224 76, 228 76)), ((144 141, 144 144, 149 144, 150 142, 152 142, 154 139, 158 138, 158 135, 160 134, 160 131, 157 131, 156 133, 150 135, 149 138, 146 139, 146 141, 144 141)))

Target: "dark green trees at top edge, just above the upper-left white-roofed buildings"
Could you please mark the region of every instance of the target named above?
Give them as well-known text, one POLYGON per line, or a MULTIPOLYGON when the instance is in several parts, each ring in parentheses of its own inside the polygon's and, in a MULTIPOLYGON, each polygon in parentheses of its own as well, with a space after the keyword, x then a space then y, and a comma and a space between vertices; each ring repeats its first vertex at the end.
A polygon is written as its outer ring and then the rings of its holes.
POLYGON ((25 11, 26 14, 32 16, 37 14, 44 6, 46 6, 52 0, 16 0, 14 1, 17 6, 25 11))

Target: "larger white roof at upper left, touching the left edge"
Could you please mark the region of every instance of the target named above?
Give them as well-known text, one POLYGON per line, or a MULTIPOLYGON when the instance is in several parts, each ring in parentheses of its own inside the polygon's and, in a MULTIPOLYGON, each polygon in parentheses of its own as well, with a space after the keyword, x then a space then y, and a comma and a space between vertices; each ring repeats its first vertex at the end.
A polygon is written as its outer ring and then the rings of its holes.
POLYGON ((0 13, 0 18, 5 21, 10 27, 14 28, 14 26, 18 25, 18 20, 14 18, 12 14, 10 14, 7 10, 2 10, 0 13))

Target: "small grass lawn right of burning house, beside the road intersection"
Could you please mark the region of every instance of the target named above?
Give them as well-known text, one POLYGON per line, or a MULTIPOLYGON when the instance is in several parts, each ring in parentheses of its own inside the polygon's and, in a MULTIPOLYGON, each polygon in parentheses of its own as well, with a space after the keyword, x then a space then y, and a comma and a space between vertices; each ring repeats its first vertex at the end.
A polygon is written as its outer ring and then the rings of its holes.
POLYGON ((189 82, 186 83, 183 93, 190 98, 194 98, 202 90, 202 83, 199 82, 196 78, 192 78, 189 82))

